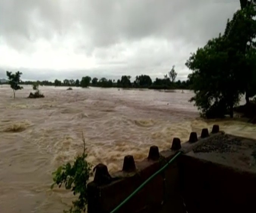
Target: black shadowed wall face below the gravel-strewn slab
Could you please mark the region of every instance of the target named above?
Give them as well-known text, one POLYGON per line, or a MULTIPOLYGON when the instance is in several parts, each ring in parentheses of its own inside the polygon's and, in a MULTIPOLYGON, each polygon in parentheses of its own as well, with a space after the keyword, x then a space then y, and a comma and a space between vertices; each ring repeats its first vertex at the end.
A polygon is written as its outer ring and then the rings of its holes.
POLYGON ((183 155, 181 193, 189 213, 256 212, 256 174, 183 155))

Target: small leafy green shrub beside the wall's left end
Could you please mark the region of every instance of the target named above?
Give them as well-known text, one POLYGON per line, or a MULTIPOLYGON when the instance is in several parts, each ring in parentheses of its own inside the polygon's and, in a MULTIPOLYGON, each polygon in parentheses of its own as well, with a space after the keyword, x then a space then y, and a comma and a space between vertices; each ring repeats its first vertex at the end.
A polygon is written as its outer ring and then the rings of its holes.
POLYGON ((85 149, 84 135, 84 151, 81 156, 75 158, 74 164, 71 165, 69 162, 60 166, 55 172, 53 172, 53 181, 51 189, 57 184, 59 188, 65 185, 67 190, 71 190, 73 195, 79 195, 76 201, 72 201, 71 208, 64 212, 69 213, 81 213, 85 212, 87 199, 87 182, 90 175, 91 165, 86 161, 87 153, 85 149))

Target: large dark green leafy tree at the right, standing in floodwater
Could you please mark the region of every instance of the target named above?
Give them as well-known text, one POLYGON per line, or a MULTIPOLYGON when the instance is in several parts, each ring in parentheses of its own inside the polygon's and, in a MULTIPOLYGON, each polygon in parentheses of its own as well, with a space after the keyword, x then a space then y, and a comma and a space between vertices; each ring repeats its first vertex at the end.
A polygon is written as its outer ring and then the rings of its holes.
POLYGON ((206 118, 223 117, 239 102, 240 95, 256 94, 255 6, 246 6, 227 21, 223 35, 197 49, 186 62, 195 96, 190 101, 206 118))

